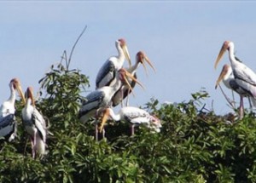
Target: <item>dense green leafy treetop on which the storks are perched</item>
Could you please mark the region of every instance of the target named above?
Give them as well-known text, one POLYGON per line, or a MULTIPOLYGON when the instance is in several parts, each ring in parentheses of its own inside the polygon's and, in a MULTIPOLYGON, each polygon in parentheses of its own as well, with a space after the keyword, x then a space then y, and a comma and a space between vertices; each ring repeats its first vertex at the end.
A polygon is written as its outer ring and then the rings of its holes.
MULTIPOLYGON (((230 123, 205 108, 202 90, 177 105, 151 99, 145 109, 160 117, 160 133, 109 122, 107 139, 94 139, 94 123, 78 111, 88 77, 69 62, 51 66, 39 83, 37 106, 49 119, 49 153, 32 159, 22 125, 0 144, 0 182, 255 182, 256 120, 247 113, 230 123)), ((22 105, 17 102, 17 120, 22 105)))

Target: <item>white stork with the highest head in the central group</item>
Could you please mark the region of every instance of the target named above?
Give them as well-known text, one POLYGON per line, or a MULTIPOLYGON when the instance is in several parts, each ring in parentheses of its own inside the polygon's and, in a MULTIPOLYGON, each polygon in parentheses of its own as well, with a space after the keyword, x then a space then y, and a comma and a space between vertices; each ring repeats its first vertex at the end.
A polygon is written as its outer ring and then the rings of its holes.
POLYGON ((128 60, 129 66, 131 66, 131 58, 125 39, 119 38, 116 40, 115 46, 119 54, 106 60, 98 71, 96 75, 96 89, 100 89, 104 86, 112 86, 113 83, 115 83, 116 71, 119 71, 119 69, 123 67, 125 59, 128 60))

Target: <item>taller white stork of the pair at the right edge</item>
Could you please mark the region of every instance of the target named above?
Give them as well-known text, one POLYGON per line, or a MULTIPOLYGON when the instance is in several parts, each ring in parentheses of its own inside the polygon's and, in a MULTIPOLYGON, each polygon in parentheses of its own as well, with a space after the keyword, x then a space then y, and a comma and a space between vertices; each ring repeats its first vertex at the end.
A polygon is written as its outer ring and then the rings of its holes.
MULTIPOLYGON (((222 59, 226 50, 229 51, 230 64, 237 85, 246 91, 249 97, 251 97, 253 100, 256 100, 256 74, 248 66, 237 59, 234 53, 235 44, 233 42, 224 41, 223 46, 218 53, 217 60, 215 61, 214 68, 217 68, 218 62, 222 59)), ((243 117, 242 99, 241 105, 239 107, 239 114, 241 119, 243 117)))

